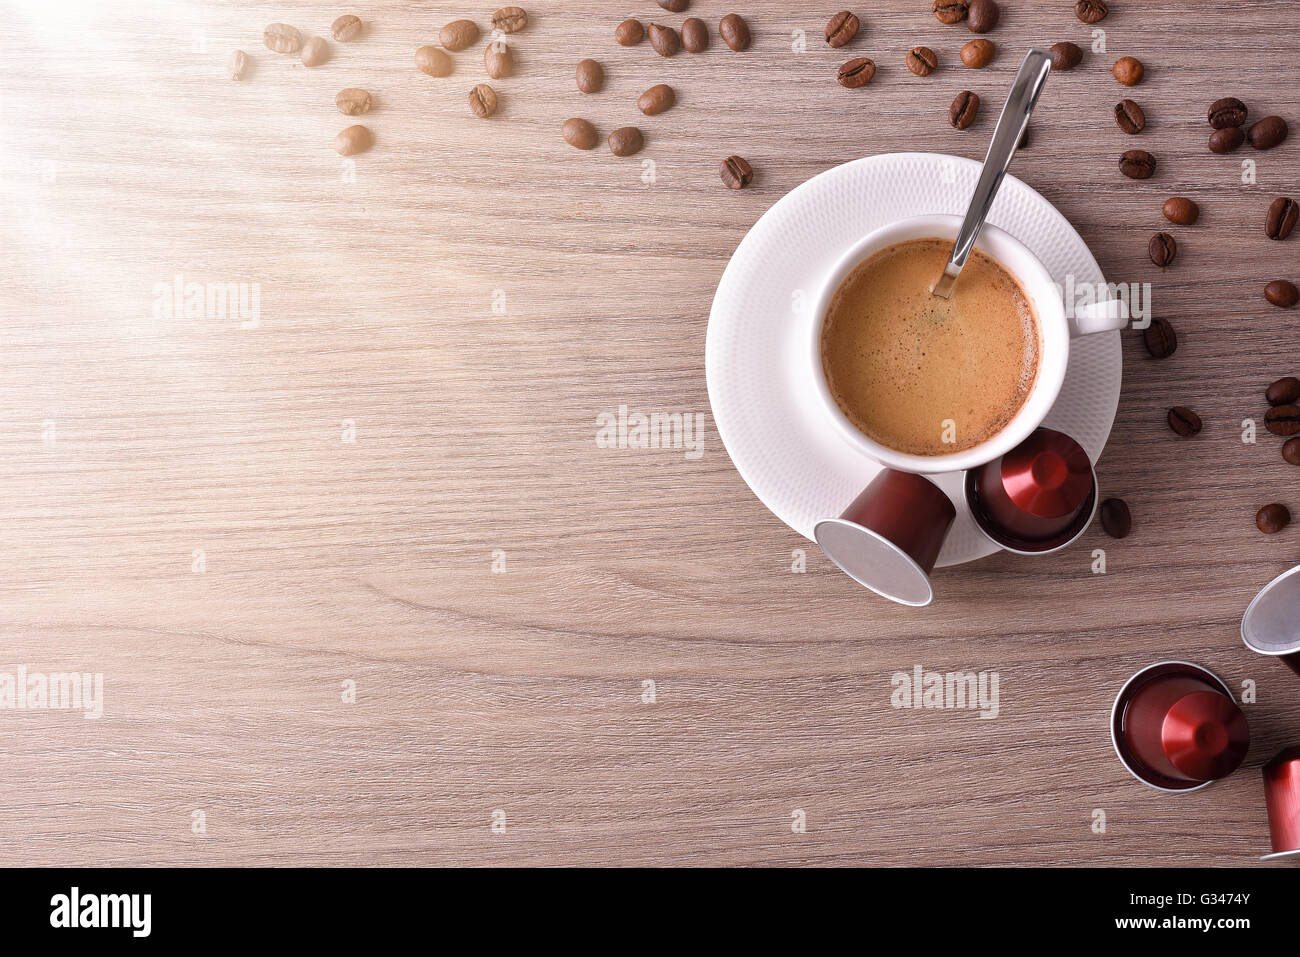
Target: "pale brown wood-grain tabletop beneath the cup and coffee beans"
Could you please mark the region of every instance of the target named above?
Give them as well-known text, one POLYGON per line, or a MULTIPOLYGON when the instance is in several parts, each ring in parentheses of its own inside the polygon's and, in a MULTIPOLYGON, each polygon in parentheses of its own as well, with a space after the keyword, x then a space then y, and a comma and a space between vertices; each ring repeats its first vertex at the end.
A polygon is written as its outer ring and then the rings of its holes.
POLYGON ((599 450, 595 416, 707 412, 708 304, 750 225, 862 155, 982 156, 1020 52, 1088 42, 1067 0, 1005 3, 983 73, 959 65, 970 34, 928 0, 855 8, 866 33, 842 51, 820 39, 833 7, 696 0, 711 25, 745 13, 754 48, 715 36, 671 61, 612 42, 624 16, 680 22, 651 0, 528 4, 520 75, 486 122, 465 107, 482 42, 445 81, 411 53, 455 17, 486 25, 490 3, 5 8, 0 670, 105 676, 99 722, 0 713, 8 863, 1251 865, 1268 850, 1258 767, 1300 740, 1300 685, 1242 648, 1238 620, 1300 558, 1300 529, 1265 538, 1254 510, 1300 511, 1300 492, 1277 442, 1243 445, 1239 423, 1262 416, 1268 381, 1300 373, 1295 315, 1258 296, 1300 274, 1300 237, 1269 243, 1261 225, 1300 190, 1300 160, 1295 142, 1210 156, 1204 112, 1235 94, 1300 121, 1290 4, 1115 0, 1109 53, 1049 82, 1013 172, 1110 278, 1156 282, 1180 334, 1153 363, 1126 333, 1100 475, 1136 531, 940 572, 940 603, 919 611, 857 588, 770 515, 711 419, 688 462, 599 450), (368 33, 324 68, 261 47, 268 22, 324 33, 341 13, 368 33), (933 77, 902 66, 915 43, 939 52, 933 77), (234 47, 255 60, 242 83, 224 77, 234 47), (1110 78, 1123 53, 1147 64, 1134 91, 1110 78), (879 73, 850 92, 833 74, 854 55, 879 73), (585 56, 607 66, 603 94, 573 87, 585 56), (633 104, 655 82, 680 105, 646 120, 633 104), (343 86, 378 101, 355 183, 330 150, 343 86), (962 88, 987 105, 956 133, 962 88), (1147 109, 1136 139, 1110 118, 1126 92, 1147 109), (647 150, 580 153, 559 138, 568 116, 604 133, 640 121, 647 150), (1135 146, 1161 161, 1144 183, 1115 169, 1135 146), (758 170, 742 194, 718 182, 732 152, 758 170), (1145 244, 1170 194, 1204 213, 1175 230, 1161 276, 1145 244), (260 283, 260 328, 155 321, 153 283, 177 273, 260 283), (1204 416, 1201 437, 1166 430, 1174 403, 1204 416), (1096 546, 1105 576, 1088 572, 1096 546), (1139 785, 1106 731, 1119 684, 1169 657, 1258 684, 1247 765, 1195 794, 1139 785), (1001 716, 892 710, 889 676, 914 664, 998 671, 1001 716))

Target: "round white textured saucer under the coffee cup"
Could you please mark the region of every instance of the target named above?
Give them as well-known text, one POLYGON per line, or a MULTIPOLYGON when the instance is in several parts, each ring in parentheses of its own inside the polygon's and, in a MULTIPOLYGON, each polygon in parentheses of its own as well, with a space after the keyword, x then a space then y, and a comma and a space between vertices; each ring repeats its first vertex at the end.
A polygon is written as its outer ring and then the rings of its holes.
MULTIPOLYGON (((823 277, 853 242, 907 216, 966 212, 982 164, 942 153, 885 153, 828 169, 768 209, 732 255, 708 315, 705 367, 714 421, 736 469, 781 521, 812 538, 880 471, 811 402, 803 343, 823 277)), ((1087 244, 1056 207, 1008 176, 989 215, 1065 283, 1104 282, 1087 244)), ((1045 425, 1095 463, 1119 404, 1119 333, 1074 339, 1065 386, 1045 425)), ((931 476, 957 507, 937 564, 997 551, 971 519, 961 473, 931 476)))

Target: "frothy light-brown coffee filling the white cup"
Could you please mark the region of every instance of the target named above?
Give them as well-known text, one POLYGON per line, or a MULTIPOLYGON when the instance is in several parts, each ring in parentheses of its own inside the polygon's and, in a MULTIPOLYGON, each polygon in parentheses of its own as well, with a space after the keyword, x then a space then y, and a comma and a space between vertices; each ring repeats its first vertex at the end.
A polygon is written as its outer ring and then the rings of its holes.
POLYGON ((992 257, 972 251, 953 296, 931 294, 952 246, 913 239, 863 260, 840 283, 822 329, 836 404, 900 452, 950 455, 991 439, 1037 378, 1037 316, 992 257))

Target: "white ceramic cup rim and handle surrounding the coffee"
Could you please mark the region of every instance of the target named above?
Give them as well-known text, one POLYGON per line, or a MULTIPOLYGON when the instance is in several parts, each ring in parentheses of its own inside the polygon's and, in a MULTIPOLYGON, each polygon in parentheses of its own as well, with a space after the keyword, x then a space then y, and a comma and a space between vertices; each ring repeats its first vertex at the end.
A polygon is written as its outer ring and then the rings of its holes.
MULTIPOLYGON (((1034 387, 1024 404, 1001 432, 965 451, 949 455, 913 455, 880 445, 849 421, 835 397, 831 395, 831 387, 826 381, 826 371, 822 364, 822 328, 826 324, 831 299, 849 273, 880 250, 910 239, 956 239, 961 222, 962 217, 959 216, 915 216, 868 233, 848 248, 832 267, 812 308, 809 355, 812 363, 816 402, 826 410, 845 441, 881 465, 904 472, 930 475, 959 472, 1009 452, 1043 424, 1056 402, 1061 384, 1065 382, 1066 365, 1070 361, 1070 339, 1076 335, 1121 329, 1128 321, 1128 307, 1121 299, 1105 299, 1076 307, 1074 315, 1067 317, 1061 290, 1053 282, 1052 273, 1048 272, 1046 267, 1011 234, 985 224, 984 229, 980 230, 975 248, 991 256, 1020 283, 1039 320, 1041 339, 1039 342, 1039 372, 1034 387)), ((936 274, 935 278, 937 280, 939 276, 936 274)))

